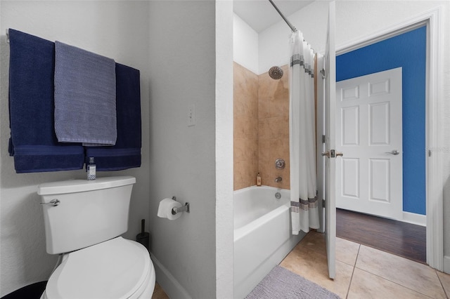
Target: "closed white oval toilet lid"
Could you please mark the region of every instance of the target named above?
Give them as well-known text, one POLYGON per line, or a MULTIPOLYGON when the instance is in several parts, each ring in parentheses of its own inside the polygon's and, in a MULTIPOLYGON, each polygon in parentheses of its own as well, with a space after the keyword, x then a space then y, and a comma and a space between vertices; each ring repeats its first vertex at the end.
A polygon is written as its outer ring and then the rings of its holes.
POLYGON ((141 244, 117 237, 68 253, 46 286, 48 298, 129 298, 143 284, 150 256, 141 244))

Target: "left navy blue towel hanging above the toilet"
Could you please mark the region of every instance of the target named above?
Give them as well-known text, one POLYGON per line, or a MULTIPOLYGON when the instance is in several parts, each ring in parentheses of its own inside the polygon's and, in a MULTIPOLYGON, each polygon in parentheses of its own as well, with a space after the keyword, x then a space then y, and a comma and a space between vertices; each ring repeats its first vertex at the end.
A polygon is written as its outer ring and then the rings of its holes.
POLYGON ((17 173, 82 169, 79 143, 59 143, 53 126, 55 44, 9 29, 9 153, 17 173))

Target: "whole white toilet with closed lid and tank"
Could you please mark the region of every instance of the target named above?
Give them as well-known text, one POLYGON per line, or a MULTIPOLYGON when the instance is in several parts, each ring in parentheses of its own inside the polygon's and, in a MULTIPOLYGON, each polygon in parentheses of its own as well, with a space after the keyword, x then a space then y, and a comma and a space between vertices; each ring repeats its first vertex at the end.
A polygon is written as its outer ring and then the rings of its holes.
POLYGON ((39 185, 46 251, 58 254, 41 298, 151 298, 155 268, 128 230, 132 176, 39 185))

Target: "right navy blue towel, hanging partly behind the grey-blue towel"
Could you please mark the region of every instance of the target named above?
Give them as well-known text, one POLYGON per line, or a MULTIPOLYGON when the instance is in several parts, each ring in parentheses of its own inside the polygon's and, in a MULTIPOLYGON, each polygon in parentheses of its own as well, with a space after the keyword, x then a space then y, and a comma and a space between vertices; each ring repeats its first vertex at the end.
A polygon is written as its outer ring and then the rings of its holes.
POLYGON ((114 146, 86 147, 86 165, 95 158, 97 171, 141 166, 141 84, 139 69, 115 64, 117 140, 114 146))

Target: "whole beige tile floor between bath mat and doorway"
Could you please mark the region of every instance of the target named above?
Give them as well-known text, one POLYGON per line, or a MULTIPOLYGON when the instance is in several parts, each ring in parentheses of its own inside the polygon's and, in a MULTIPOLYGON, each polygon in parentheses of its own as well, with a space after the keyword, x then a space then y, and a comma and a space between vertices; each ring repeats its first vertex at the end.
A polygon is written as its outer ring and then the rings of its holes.
POLYGON ((336 278, 328 278, 324 235, 309 232, 282 267, 341 298, 448 298, 450 275, 397 255, 337 238, 336 278))

